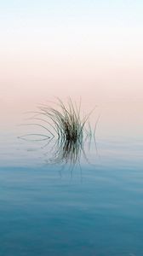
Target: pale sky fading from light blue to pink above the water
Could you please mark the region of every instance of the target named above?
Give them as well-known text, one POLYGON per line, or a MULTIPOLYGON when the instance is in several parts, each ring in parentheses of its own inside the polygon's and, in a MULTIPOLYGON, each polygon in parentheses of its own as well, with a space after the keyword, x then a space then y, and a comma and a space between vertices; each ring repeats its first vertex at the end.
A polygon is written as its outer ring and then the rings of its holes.
POLYGON ((143 2, 0 1, 0 108, 143 98, 143 2))

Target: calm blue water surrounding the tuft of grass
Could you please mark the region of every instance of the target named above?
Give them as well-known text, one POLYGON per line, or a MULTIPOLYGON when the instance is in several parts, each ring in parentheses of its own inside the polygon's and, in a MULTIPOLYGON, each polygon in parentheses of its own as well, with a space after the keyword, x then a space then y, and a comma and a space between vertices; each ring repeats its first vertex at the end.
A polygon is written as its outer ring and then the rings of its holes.
POLYGON ((113 128, 103 119, 97 150, 86 144, 89 162, 73 169, 49 165, 49 148, 3 129, 0 255, 143 255, 141 118, 113 128))

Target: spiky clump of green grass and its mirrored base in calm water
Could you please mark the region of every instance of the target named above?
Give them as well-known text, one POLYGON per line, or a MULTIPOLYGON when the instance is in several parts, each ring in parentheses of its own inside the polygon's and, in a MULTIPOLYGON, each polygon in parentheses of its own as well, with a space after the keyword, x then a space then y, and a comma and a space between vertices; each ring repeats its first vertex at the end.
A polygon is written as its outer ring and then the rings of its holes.
MULTIPOLYGON (((53 139, 56 139, 50 150, 52 154, 50 161, 54 163, 70 162, 75 164, 79 162, 81 153, 84 154, 83 141, 94 135, 89 125, 89 114, 81 118, 80 105, 77 107, 76 103, 73 104, 71 98, 67 105, 58 99, 55 108, 45 105, 39 107, 32 118, 38 122, 27 124, 37 125, 44 131, 48 131, 48 136, 43 133, 37 134, 48 140, 47 146, 53 139), (42 125, 42 122, 44 122, 44 125, 42 125), (87 122, 88 125, 86 125, 87 122)), ((84 157, 86 158, 85 154, 84 157)))

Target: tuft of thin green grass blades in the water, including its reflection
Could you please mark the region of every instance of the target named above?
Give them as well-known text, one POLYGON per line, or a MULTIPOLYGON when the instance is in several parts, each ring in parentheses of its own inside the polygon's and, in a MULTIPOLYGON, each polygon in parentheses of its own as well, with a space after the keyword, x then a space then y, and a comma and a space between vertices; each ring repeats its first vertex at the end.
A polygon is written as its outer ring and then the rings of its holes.
POLYGON ((84 146, 88 144, 90 148, 90 144, 94 142, 96 148, 95 131, 99 120, 96 120, 92 129, 89 117, 93 112, 94 109, 82 116, 81 102, 77 106, 69 98, 65 104, 58 98, 54 107, 40 105, 37 111, 28 112, 31 117, 23 125, 31 126, 32 131, 36 128, 39 131, 26 133, 19 138, 44 143, 40 148, 44 149, 47 164, 69 165, 73 168, 80 166, 82 157, 89 163, 84 146))

